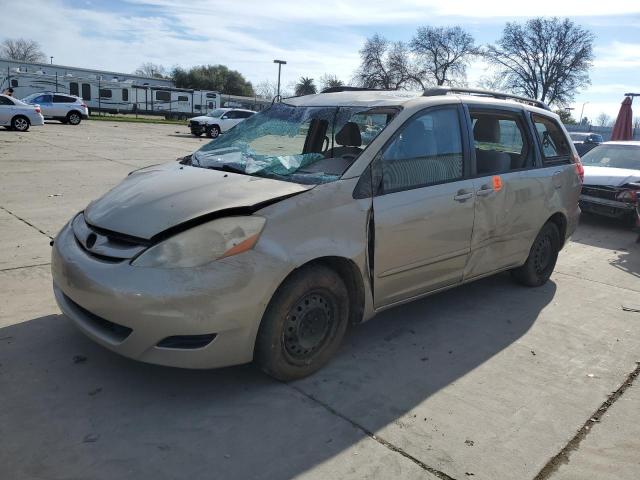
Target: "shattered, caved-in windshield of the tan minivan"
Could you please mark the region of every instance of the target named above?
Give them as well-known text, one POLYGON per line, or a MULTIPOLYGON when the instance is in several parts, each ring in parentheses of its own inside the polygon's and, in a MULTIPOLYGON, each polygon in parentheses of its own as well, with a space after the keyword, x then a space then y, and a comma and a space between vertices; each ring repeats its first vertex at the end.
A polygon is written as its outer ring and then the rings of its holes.
POLYGON ((196 167, 296 183, 340 178, 396 110, 277 103, 195 152, 196 167))

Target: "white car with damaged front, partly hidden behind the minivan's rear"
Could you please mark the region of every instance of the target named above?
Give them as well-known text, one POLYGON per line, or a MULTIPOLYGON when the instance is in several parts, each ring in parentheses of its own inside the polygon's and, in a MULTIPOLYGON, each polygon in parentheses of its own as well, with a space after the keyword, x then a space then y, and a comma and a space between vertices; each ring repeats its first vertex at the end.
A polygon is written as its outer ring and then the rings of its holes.
POLYGON ((605 142, 582 162, 582 211, 633 222, 640 197, 640 142, 605 142))

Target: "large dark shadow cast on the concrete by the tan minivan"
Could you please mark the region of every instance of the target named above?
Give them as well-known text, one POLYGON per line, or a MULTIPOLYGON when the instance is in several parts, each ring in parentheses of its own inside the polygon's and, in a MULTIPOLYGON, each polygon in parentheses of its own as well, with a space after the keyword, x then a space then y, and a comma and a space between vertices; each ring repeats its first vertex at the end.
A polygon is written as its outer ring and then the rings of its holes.
POLYGON ((518 340, 555 291, 498 275, 394 308, 289 386, 250 365, 127 360, 62 315, 5 327, 0 465, 12 479, 291 478, 367 438, 307 395, 378 431, 518 340))

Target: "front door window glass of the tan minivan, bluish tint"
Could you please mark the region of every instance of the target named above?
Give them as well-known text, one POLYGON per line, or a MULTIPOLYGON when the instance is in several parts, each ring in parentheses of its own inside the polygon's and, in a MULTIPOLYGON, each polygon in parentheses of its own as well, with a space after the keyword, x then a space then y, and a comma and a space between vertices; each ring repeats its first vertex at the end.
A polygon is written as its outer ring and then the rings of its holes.
POLYGON ((432 110, 409 120, 382 154, 383 193, 462 179, 457 108, 432 110))

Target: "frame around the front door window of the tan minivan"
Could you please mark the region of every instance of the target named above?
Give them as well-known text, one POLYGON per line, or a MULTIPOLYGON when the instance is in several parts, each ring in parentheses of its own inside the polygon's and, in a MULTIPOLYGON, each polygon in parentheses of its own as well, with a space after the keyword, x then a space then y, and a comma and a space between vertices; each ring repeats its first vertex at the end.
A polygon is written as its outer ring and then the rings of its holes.
MULTIPOLYGON (((400 125, 396 131, 393 133, 393 135, 384 143, 384 145, 382 145, 382 147, 380 147, 380 150, 378 150, 378 152, 376 153, 375 157, 373 158, 373 160, 370 163, 371 166, 371 174, 372 177, 374 179, 373 183, 375 183, 375 185, 373 185, 373 188, 375 189, 375 191, 373 192, 373 196, 374 197, 379 197, 379 196, 383 196, 383 195, 390 195, 393 193, 399 193, 399 192, 406 192, 409 190, 416 190, 418 188, 429 188, 429 187, 433 187, 436 185, 444 185, 446 183, 454 183, 454 182, 461 182, 464 180, 468 180, 470 177, 470 168, 469 168, 469 157, 470 157, 470 153, 469 153, 469 138, 468 138, 468 132, 467 132, 467 128, 465 123, 466 120, 464 118, 465 116, 465 112, 464 112, 464 108, 461 102, 455 102, 455 103, 447 103, 447 104, 443 104, 443 105, 433 105, 433 106, 429 106, 426 108, 423 108, 422 110, 417 111, 416 113, 414 113, 413 115, 411 115, 408 119, 406 119, 402 125, 400 125), (402 132, 402 130, 410 123, 412 122, 414 119, 416 119, 417 117, 420 117, 422 115, 425 115, 427 113, 430 112, 434 112, 437 110, 453 110, 456 112, 456 114, 458 115, 458 128, 460 129, 460 142, 461 142, 461 147, 462 147, 462 177, 460 178, 454 178, 451 180, 444 180, 441 182, 435 182, 435 183, 428 183, 428 184, 424 184, 424 185, 415 185, 415 186, 409 186, 406 188, 402 188, 402 189, 398 189, 398 190, 393 190, 390 192, 385 192, 384 191, 384 179, 383 179, 383 173, 382 173, 382 156, 384 151, 387 149, 387 147, 395 141, 395 139, 398 137, 398 135, 400 135, 400 133, 402 132), (379 180, 379 181, 376 181, 379 180)), ((365 169, 366 171, 366 169, 365 169)), ((364 172, 363 172, 364 174, 364 172)))

